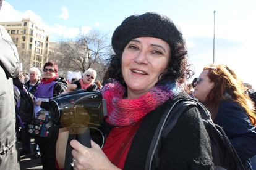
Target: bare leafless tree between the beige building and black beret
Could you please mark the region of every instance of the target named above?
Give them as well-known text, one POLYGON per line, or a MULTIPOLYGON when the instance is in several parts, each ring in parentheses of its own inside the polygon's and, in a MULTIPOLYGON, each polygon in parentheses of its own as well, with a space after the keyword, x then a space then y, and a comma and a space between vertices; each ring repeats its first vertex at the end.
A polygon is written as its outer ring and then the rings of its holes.
POLYGON ((49 57, 58 63, 60 70, 84 72, 93 68, 97 71, 97 79, 102 80, 108 65, 106 59, 112 52, 108 36, 93 30, 75 41, 60 42, 56 52, 49 57))

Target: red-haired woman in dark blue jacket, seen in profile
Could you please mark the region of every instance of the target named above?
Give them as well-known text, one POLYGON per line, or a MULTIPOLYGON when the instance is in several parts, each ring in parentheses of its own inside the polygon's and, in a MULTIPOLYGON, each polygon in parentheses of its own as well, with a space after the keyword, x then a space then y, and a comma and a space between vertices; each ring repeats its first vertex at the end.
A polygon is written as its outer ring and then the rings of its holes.
POLYGON ((241 79, 226 65, 209 65, 197 78, 194 97, 223 127, 245 169, 252 169, 249 158, 256 154, 256 116, 241 79))

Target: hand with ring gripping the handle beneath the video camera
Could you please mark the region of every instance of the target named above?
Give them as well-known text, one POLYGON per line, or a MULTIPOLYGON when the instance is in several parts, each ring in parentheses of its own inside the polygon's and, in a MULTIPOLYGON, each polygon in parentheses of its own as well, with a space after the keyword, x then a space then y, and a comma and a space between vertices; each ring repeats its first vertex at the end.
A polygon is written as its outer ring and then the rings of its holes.
POLYGON ((80 144, 77 140, 71 140, 72 155, 74 157, 75 166, 74 169, 119 169, 111 161, 108 160, 108 157, 103 153, 100 146, 91 140, 92 148, 88 148, 80 144))

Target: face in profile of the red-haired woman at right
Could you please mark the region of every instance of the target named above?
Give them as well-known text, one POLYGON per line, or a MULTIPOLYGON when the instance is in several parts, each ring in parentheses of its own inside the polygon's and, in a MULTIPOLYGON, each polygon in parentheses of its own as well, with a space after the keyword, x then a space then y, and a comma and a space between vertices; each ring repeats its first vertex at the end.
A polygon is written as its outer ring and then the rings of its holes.
POLYGON ((199 78, 195 82, 194 97, 200 102, 205 102, 205 99, 211 89, 214 87, 214 83, 211 82, 210 78, 207 76, 209 70, 203 70, 199 78))

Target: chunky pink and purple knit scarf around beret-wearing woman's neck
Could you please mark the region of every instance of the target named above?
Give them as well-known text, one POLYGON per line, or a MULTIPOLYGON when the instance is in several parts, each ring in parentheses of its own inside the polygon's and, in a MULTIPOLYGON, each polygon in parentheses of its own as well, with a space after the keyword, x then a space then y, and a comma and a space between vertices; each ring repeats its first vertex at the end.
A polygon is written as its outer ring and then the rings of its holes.
POLYGON ((113 80, 103 87, 103 98, 107 102, 108 116, 106 121, 114 126, 128 126, 137 123, 150 111, 168 99, 179 94, 176 83, 166 83, 153 87, 147 94, 137 99, 124 99, 124 87, 113 80))

